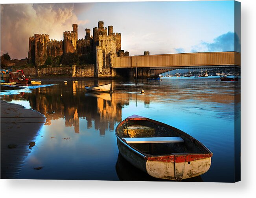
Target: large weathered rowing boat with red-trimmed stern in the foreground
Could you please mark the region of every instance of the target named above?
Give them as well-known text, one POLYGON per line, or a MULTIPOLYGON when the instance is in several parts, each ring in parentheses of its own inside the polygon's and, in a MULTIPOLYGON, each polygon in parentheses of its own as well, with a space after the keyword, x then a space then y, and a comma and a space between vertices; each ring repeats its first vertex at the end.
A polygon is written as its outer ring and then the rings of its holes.
POLYGON ((164 123, 133 115, 116 127, 122 156, 149 175, 182 180, 206 173, 212 152, 201 142, 164 123))

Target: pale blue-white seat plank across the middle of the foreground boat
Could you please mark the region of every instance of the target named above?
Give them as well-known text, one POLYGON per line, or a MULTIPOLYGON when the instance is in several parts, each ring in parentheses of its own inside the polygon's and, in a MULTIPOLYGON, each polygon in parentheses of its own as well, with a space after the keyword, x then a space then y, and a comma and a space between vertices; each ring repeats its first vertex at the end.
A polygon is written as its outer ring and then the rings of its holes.
POLYGON ((149 137, 149 138, 123 138, 128 144, 144 143, 180 143, 184 140, 180 137, 149 137))

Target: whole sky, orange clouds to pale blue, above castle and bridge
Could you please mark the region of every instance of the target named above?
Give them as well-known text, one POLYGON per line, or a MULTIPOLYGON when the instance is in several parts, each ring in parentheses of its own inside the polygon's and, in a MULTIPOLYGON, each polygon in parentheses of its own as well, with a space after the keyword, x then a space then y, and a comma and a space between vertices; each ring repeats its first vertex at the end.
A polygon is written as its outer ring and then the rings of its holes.
POLYGON ((29 36, 44 33, 63 40, 72 24, 78 24, 78 38, 84 38, 85 29, 92 35, 98 21, 122 34, 122 50, 130 56, 240 52, 240 9, 234 7, 234 1, 1 4, 1 55, 25 58, 29 36))

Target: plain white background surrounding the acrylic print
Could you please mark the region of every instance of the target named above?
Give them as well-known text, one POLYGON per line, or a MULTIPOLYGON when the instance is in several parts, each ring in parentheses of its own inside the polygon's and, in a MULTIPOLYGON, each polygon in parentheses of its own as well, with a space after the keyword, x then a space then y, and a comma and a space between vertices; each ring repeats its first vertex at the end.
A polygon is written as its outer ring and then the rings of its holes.
MULTIPOLYGON (((111 0, 112 2, 115 0, 111 0)), ((95 2, 95 0, 27 0, 22 3, 95 2)), ((98 2, 108 2, 100 0, 98 2)), ((256 1, 241 2, 241 182, 120 182, 65 180, 0 180, 2 197, 255 197, 256 1)), ((0 0, 4 3, 20 3, 0 0)), ((10 13, 11 14, 11 13, 10 13)), ((1 27, 3 28, 3 27, 1 27)), ((225 162, 223 162, 225 163, 225 162)), ((74 167, 75 168, 75 167, 74 167)), ((65 174, 65 173, 63 173, 65 174)))

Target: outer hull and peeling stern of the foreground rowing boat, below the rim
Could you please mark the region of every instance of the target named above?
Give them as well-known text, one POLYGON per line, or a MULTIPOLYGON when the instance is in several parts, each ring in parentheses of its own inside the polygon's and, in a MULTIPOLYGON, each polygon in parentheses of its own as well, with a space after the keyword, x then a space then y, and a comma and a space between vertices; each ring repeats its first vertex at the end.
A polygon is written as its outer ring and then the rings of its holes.
MULTIPOLYGON (((125 160, 155 178, 184 180, 206 173, 211 166, 211 154, 205 155, 203 159, 193 161, 184 160, 184 162, 175 162, 175 158, 178 157, 175 155, 162 156, 154 160, 153 158, 148 158, 134 152, 131 147, 122 144, 120 140, 117 140, 117 142, 119 152, 125 160)), ((179 156, 185 158, 185 155, 179 156)))

